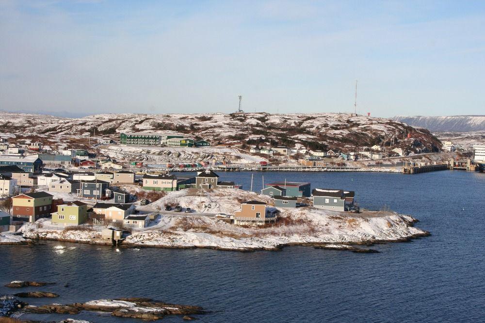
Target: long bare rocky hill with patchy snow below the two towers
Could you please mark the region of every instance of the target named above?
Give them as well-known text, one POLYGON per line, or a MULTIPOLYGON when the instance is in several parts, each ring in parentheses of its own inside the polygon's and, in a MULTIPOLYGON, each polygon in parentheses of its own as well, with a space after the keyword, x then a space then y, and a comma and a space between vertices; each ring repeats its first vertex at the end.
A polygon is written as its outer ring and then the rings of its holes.
POLYGON ((97 114, 83 118, 0 113, 0 132, 15 134, 17 140, 29 136, 88 137, 94 133, 116 140, 121 132, 178 132, 208 139, 212 145, 244 148, 268 145, 271 141, 273 146, 343 151, 391 143, 407 151, 435 151, 441 145, 426 129, 345 113, 97 114))

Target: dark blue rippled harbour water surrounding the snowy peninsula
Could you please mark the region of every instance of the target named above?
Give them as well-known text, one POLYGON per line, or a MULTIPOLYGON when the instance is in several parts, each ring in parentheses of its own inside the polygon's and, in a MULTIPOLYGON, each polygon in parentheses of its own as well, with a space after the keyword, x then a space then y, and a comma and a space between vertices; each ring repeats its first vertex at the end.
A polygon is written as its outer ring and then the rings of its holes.
MULTIPOLYGON (((219 173, 248 189, 251 173, 219 173)), ((420 219, 432 236, 373 248, 379 254, 287 247, 280 252, 120 249, 48 242, 0 247, 0 284, 55 281, 43 288, 68 303, 144 296, 214 310, 202 322, 483 322, 485 174, 441 171, 255 173, 254 188, 286 178, 355 190, 362 206, 420 219), (464 209, 464 210, 463 210, 464 209), (76 247, 63 254, 56 245, 76 247), (65 288, 64 284, 70 287, 65 288)), ((0 287, 0 293, 11 292, 0 287)), ((33 300, 32 304, 49 302, 33 300)), ((69 316, 24 316, 59 320, 69 316)), ((70 316, 73 317, 73 316, 70 316)), ((92 322, 133 322, 82 313, 92 322)), ((180 322, 180 317, 164 321, 180 322)))

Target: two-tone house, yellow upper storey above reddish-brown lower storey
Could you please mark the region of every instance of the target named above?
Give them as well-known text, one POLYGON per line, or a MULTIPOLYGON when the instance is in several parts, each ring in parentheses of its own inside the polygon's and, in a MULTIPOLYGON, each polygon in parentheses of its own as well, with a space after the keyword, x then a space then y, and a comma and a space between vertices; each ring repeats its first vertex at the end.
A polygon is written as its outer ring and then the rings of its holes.
POLYGON ((46 192, 24 193, 12 197, 14 221, 34 223, 41 217, 49 217, 51 209, 52 195, 46 192))

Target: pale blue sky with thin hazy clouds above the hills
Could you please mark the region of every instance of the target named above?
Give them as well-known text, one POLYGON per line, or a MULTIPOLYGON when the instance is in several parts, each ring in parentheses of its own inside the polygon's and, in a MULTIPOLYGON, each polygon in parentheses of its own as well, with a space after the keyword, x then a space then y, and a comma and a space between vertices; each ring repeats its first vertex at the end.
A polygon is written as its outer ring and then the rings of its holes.
POLYGON ((0 110, 485 114, 485 1, 0 0, 0 110))

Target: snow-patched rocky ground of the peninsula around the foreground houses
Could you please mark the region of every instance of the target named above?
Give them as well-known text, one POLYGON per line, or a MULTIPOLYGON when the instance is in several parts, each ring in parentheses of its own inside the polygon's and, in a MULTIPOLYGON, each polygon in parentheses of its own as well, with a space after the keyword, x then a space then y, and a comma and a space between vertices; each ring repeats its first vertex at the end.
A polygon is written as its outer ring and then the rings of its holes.
MULTIPOLYGON (((281 221, 275 226, 242 227, 228 224, 216 214, 232 215, 239 202, 256 199, 271 205, 268 196, 242 190, 203 191, 194 189, 172 192, 139 210, 162 210, 158 219, 143 229, 133 229, 123 242, 131 246, 169 248, 216 248, 226 250, 275 250, 289 244, 342 244, 369 241, 403 241, 425 235, 412 226, 413 218, 392 212, 354 214, 317 210, 310 207, 280 209, 281 221), (165 203, 190 207, 194 213, 164 212, 165 203), (200 207, 200 209, 199 209, 200 207)), ((100 234, 103 226, 92 230, 65 231, 52 226, 49 219, 27 224, 20 230, 26 238, 89 242, 100 234)))

